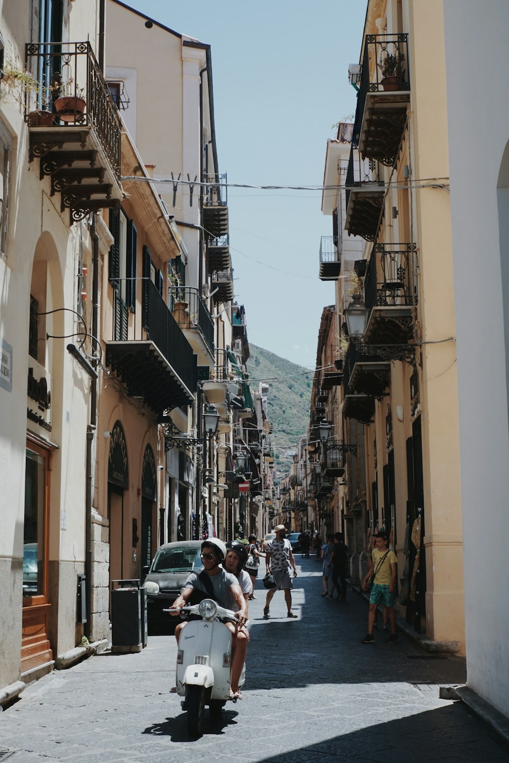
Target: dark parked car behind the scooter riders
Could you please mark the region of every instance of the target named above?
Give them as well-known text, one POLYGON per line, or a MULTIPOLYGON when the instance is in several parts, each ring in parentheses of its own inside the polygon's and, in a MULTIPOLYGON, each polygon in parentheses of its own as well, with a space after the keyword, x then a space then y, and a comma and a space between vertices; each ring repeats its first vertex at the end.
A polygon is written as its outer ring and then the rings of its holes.
POLYGON ((147 592, 147 619, 150 623, 178 622, 163 613, 171 606, 183 588, 190 572, 201 572, 201 540, 182 540, 164 543, 157 550, 150 568, 143 568, 147 577, 143 581, 153 581, 159 585, 158 594, 147 592))

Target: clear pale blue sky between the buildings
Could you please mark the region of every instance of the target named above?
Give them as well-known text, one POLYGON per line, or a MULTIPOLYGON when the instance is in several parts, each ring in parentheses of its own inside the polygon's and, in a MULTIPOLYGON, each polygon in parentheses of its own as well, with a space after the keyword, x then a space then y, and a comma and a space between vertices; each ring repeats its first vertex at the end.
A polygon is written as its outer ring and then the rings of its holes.
MULTIPOLYGON (((211 45, 219 169, 228 182, 321 185, 332 125, 356 108, 366 0, 124 0, 211 45)), ((322 307, 321 192, 228 191, 235 294, 250 342, 313 366, 322 307), (259 264, 263 263, 263 264, 259 264)))

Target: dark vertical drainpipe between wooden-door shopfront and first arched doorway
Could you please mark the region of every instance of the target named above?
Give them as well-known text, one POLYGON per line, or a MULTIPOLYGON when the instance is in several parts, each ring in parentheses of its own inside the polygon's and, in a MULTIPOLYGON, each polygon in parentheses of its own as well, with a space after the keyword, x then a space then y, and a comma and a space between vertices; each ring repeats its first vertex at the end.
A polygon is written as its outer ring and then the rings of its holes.
MULTIPOLYGON (((99 237, 95 226, 95 214, 92 214, 90 226, 92 237, 92 342, 97 346, 98 326, 98 283, 99 283, 99 237)), ((90 423, 86 432, 86 488, 85 488, 85 589, 86 589, 86 623, 85 636, 89 639, 92 634, 92 443, 97 424, 97 380, 90 381, 90 423)))

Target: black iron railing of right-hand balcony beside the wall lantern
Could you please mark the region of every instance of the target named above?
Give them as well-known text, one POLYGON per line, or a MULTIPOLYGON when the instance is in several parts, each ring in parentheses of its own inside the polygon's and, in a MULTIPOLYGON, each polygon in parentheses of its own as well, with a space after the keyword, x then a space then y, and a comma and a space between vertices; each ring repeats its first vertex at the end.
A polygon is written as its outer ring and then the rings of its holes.
POLYGON ((366 307, 417 304, 414 243, 377 243, 364 279, 366 307))

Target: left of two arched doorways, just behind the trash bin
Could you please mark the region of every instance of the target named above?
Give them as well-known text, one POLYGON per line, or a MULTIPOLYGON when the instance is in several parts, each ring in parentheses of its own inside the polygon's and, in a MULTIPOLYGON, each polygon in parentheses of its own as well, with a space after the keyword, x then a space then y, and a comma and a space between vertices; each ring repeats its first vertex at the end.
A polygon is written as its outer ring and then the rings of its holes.
POLYGON ((124 491, 129 488, 129 462, 124 427, 115 421, 108 456, 108 523, 110 581, 124 578, 124 491))

